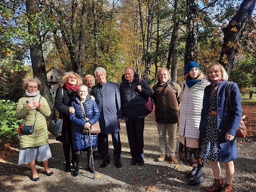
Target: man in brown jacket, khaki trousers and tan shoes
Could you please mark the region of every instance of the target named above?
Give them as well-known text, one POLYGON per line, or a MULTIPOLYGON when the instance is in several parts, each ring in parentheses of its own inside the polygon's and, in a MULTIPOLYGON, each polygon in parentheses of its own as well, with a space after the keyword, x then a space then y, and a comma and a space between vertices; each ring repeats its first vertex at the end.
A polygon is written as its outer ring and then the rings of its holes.
POLYGON ((180 86, 171 82, 170 72, 167 68, 160 69, 156 79, 158 83, 153 86, 153 101, 156 106, 155 114, 161 152, 157 160, 164 161, 168 157, 169 146, 170 163, 178 163, 175 151, 178 110, 181 105, 180 86), (168 131, 168 144, 166 142, 166 130, 168 131))

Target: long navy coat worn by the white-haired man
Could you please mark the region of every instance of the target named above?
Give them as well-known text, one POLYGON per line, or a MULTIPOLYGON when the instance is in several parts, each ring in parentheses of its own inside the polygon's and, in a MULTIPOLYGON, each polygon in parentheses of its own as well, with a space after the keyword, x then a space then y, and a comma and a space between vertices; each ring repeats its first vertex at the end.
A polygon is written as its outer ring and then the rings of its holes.
POLYGON ((92 87, 92 96, 100 110, 100 133, 110 134, 120 131, 117 119, 122 119, 121 100, 118 84, 107 81, 92 87))

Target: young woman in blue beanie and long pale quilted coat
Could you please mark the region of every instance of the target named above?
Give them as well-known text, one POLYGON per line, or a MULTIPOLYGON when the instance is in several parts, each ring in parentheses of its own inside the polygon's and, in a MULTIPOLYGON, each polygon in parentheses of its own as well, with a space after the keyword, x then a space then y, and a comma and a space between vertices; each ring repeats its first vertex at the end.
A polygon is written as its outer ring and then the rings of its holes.
POLYGON ((198 63, 186 64, 186 80, 182 82, 180 98, 180 147, 179 158, 184 164, 192 166, 187 178, 193 178, 188 184, 197 186, 204 183, 203 160, 198 156, 199 125, 204 97, 204 88, 209 84, 200 71, 198 63))

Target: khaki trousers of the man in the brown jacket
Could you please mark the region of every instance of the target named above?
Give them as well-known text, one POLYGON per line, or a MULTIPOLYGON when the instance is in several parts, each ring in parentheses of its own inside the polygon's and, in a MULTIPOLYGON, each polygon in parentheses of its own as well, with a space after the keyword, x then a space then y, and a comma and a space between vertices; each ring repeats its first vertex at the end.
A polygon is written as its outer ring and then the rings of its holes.
POLYGON ((175 156, 176 151, 176 130, 177 123, 175 124, 165 124, 165 123, 157 123, 158 129, 158 141, 160 146, 160 152, 162 154, 168 155, 168 146, 169 146, 169 156, 175 156), (166 130, 168 132, 168 144, 166 141, 166 130))

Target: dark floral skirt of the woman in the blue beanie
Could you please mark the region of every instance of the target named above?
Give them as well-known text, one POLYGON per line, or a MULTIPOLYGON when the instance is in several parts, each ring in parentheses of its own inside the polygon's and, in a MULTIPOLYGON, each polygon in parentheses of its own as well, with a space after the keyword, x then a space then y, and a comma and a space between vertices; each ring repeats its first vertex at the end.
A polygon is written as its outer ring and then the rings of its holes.
MULTIPOLYGON (((185 139, 186 140, 186 139, 185 139)), ((204 166, 204 160, 198 156, 198 148, 190 148, 180 142, 179 158, 185 165, 197 167, 198 163, 204 166)))

